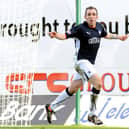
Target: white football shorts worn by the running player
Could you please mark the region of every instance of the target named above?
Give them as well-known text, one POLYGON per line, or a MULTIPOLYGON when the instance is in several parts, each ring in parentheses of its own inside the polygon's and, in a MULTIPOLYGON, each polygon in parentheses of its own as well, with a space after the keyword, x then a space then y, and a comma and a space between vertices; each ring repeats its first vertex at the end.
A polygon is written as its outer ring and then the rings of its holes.
POLYGON ((76 72, 73 75, 73 80, 84 79, 86 81, 96 73, 94 65, 88 60, 79 60, 75 63, 76 72))

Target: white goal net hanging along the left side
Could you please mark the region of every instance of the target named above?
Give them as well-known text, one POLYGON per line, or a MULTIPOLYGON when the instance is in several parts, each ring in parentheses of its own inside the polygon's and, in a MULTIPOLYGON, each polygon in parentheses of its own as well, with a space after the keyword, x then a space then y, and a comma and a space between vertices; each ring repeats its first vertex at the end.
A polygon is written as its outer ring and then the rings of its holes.
POLYGON ((0 126, 29 126, 39 24, 36 0, 0 4, 0 126))

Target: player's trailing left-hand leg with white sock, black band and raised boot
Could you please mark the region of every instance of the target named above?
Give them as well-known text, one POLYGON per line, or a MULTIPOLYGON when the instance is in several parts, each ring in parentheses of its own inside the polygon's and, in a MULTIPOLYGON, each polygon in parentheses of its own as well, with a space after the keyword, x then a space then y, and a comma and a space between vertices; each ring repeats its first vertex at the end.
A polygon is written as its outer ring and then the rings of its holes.
POLYGON ((74 93, 76 93, 78 88, 82 86, 82 80, 80 78, 80 75, 75 73, 70 87, 66 88, 51 104, 46 105, 47 120, 49 123, 52 122, 52 114, 54 113, 55 108, 66 99, 70 98, 74 93))

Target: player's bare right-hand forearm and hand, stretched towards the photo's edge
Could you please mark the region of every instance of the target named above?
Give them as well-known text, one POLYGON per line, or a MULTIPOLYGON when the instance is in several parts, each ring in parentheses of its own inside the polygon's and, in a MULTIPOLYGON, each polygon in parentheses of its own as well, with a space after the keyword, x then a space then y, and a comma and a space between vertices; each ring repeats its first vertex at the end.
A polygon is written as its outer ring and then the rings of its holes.
POLYGON ((129 37, 129 35, 117 35, 117 34, 108 33, 106 35, 106 37, 104 37, 104 38, 105 39, 119 39, 121 41, 125 41, 128 37, 129 37))

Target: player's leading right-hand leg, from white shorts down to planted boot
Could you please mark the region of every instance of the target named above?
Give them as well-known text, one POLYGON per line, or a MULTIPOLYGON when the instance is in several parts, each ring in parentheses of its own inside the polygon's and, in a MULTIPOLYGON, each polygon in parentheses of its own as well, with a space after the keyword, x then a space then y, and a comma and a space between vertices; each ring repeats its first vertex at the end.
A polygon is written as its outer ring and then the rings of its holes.
POLYGON ((101 79, 96 73, 94 66, 88 60, 78 61, 76 64, 76 70, 82 75, 83 80, 93 84, 90 94, 90 114, 88 120, 94 124, 102 124, 103 122, 95 115, 96 103, 102 86, 101 79))

